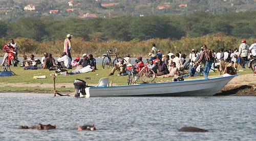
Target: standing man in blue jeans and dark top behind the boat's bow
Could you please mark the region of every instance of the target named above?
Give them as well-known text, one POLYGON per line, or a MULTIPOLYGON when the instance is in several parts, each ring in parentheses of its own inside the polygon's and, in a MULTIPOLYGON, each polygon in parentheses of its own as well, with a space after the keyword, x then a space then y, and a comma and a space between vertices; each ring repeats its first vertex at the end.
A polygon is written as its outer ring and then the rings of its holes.
POLYGON ((202 60, 204 60, 204 78, 208 79, 208 74, 211 68, 211 64, 214 63, 214 55, 210 50, 207 50, 207 46, 203 45, 203 52, 200 54, 200 58, 197 61, 197 64, 200 63, 202 60))

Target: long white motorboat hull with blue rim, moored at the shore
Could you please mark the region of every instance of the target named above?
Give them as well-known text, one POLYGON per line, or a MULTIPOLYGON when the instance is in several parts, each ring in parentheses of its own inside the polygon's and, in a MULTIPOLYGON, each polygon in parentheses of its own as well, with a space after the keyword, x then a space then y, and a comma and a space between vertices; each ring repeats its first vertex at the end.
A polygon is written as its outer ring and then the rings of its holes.
POLYGON ((238 75, 209 79, 185 80, 150 84, 135 84, 108 87, 108 78, 102 78, 96 87, 86 87, 86 95, 80 97, 109 96, 214 96, 232 78, 238 75))

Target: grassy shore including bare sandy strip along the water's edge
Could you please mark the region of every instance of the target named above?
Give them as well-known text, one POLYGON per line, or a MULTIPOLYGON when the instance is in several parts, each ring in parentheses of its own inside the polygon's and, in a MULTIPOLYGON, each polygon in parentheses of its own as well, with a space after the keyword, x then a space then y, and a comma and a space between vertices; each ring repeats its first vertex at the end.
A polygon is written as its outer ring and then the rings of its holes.
MULTIPOLYGON (((100 78, 107 77, 109 82, 112 81, 113 85, 125 85, 127 76, 109 76, 111 68, 103 69, 98 65, 98 69, 95 72, 76 74, 68 76, 57 76, 56 84, 59 85, 56 88, 58 90, 74 90, 73 82, 75 79, 82 79, 87 82, 88 85, 96 85, 100 78), (90 78, 90 79, 87 79, 90 78)), ((24 70, 23 67, 12 67, 11 70, 16 76, 1 77, 0 79, 0 92, 33 92, 33 93, 52 93, 53 92, 53 80, 50 76, 54 71, 48 69, 37 69, 37 70, 24 70), (46 79, 33 79, 33 76, 46 75, 46 79), (7 84, 6 84, 7 83, 7 84), (6 84, 6 86, 4 85, 6 84), (4 86, 3 86, 4 85, 4 86)), ((252 71, 249 68, 241 69, 243 72, 238 72, 238 75, 251 74, 252 71)), ((71 71, 71 70, 69 70, 71 71)), ((219 72, 210 73, 210 77, 219 76, 219 72)), ((185 79, 200 79, 201 77, 192 77, 185 79)), ((155 82, 172 81, 172 78, 156 78, 155 82)))

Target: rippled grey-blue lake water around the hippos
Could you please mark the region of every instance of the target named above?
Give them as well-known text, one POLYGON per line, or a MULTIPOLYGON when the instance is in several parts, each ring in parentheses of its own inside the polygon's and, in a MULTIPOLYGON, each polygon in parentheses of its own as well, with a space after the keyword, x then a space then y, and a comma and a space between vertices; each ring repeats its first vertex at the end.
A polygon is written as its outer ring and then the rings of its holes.
POLYGON ((256 97, 96 97, 0 93, 0 140, 255 140, 256 97), (19 125, 56 124, 56 130, 19 125), (96 131, 76 131, 78 124, 96 131), (184 126, 208 129, 186 133, 184 126))

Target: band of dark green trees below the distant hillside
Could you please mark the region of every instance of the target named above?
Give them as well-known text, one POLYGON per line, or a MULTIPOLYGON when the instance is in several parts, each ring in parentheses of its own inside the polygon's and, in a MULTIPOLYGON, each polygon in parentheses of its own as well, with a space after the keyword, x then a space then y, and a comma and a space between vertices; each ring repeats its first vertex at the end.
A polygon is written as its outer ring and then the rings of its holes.
POLYGON ((200 37, 218 32, 239 38, 256 36, 256 11, 214 15, 196 12, 189 16, 163 15, 114 18, 23 17, 15 22, 0 21, 0 37, 31 38, 54 41, 70 33, 83 40, 148 40, 152 38, 176 40, 200 37))

